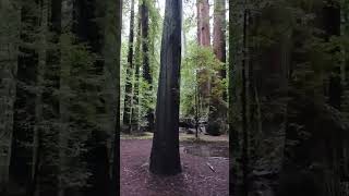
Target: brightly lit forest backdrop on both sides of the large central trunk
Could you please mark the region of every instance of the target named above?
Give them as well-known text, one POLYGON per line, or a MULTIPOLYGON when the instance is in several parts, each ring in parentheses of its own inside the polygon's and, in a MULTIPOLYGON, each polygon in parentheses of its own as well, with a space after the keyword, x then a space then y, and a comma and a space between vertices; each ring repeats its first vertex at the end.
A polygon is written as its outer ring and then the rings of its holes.
MULTIPOLYGON (((130 19, 123 21, 121 47, 121 115, 125 134, 154 131, 164 11, 165 1, 124 1, 123 13, 130 19)), ((212 119, 208 132, 214 135, 228 131, 228 16, 226 1, 183 1, 180 119, 212 119), (197 36, 203 38, 198 40, 197 36)))

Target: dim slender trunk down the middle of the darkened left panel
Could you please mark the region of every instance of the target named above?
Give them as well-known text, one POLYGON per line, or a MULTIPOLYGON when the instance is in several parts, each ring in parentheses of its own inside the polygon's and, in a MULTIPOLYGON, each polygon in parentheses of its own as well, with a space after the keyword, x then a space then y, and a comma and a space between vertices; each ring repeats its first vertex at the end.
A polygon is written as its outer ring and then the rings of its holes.
MULTIPOLYGON (((51 8, 51 23, 52 23, 52 33, 55 36, 53 42, 58 44, 59 38, 62 35, 62 28, 65 27, 65 30, 72 30, 71 25, 64 26, 64 22, 72 21, 72 0, 56 0, 52 1, 51 8)), ((60 39, 61 45, 69 46, 70 40, 65 37, 61 37, 60 39)), ((58 143, 59 143, 59 167, 58 167, 58 196, 65 195, 67 184, 64 183, 64 177, 67 176, 67 168, 68 157, 67 157, 67 148, 68 148, 68 140, 70 137, 70 111, 69 111, 69 95, 71 93, 69 79, 71 77, 71 65, 67 60, 68 54, 62 53, 67 49, 59 48, 53 51, 58 62, 60 62, 60 71, 59 71, 59 89, 61 91, 61 96, 59 98, 59 134, 58 134, 58 143)))

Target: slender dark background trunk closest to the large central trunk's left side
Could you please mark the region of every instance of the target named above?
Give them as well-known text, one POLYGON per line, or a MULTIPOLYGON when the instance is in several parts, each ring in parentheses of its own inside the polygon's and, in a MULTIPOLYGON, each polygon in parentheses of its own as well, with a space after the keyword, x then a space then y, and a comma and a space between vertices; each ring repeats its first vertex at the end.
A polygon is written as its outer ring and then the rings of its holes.
MULTIPOLYGON (((143 53, 143 78, 145 81, 146 89, 144 90, 143 102, 147 102, 146 99, 152 98, 153 91, 153 77, 149 64, 149 3, 146 0, 142 1, 142 53, 143 53)), ((145 106, 146 114, 145 119, 147 125, 146 131, 153 132, 154 130, 154 111, 149 106, 145 106)))

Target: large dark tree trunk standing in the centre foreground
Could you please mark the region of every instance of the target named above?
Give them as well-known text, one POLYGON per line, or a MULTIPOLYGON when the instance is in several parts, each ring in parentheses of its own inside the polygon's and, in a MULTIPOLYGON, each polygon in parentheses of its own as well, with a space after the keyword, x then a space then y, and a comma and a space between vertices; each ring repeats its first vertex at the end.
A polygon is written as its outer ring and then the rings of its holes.
POLYGON ((179 154, 181 10, 181 1, 166 1, 155 133, 149 168, 155 174, 181 172, 179 154))

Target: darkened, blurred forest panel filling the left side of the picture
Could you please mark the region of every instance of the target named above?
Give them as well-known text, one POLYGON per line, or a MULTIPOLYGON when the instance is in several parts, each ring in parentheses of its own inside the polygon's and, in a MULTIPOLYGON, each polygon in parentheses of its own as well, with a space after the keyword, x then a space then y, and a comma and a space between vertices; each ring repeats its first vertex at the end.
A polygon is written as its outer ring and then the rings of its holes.
POLYGON ((117 195, 121 9, 0 1, 0 195, 117 195))

